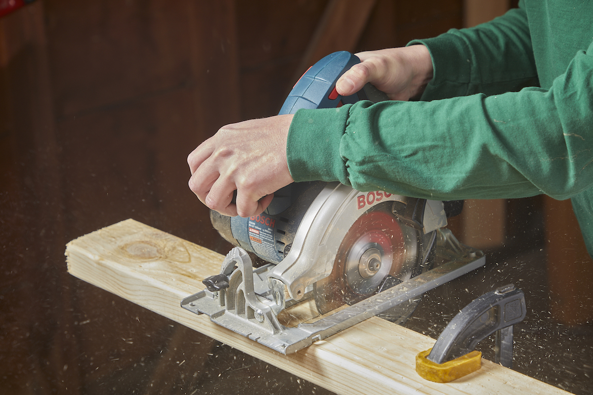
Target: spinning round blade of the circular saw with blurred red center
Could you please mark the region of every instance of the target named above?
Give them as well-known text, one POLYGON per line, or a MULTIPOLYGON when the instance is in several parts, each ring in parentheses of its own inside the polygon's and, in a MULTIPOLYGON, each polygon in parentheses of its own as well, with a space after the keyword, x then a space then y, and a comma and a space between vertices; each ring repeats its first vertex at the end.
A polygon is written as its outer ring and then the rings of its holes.
POLYGON ((415 275, 422 265, 419 237, 417 230, 398 221, 390 204, 366 211, 342 240, 331 274, 315 283, 319 312, 354 304, 385 288, 386 282, 393 285, 415 275))

